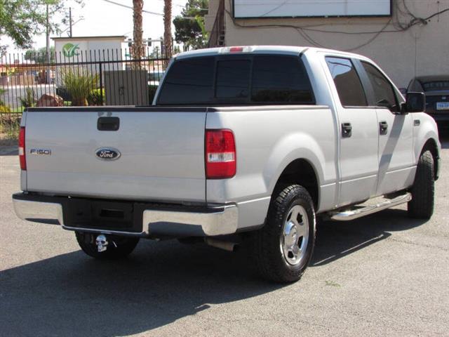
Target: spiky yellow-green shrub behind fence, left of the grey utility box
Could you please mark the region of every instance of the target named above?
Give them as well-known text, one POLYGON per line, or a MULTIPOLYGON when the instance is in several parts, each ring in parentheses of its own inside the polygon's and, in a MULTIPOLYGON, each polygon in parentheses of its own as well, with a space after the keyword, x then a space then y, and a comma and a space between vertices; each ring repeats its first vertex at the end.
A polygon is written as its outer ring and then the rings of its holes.
POLYGON ((91 74, 87 70, 67 70, 62 74, 62 85, 67 88, 74 106, 88 105, 87 98, 92 89, 98 86, 98 80, 98 74, 91 74))

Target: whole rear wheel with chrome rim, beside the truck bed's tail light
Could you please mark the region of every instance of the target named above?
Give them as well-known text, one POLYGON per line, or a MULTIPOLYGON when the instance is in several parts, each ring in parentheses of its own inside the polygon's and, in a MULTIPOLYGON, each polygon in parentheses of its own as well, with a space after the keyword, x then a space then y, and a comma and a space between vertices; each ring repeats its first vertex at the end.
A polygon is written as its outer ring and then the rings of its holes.
POLYGON ((295 282, 302 277, 314 251, 314 204, 300 185, 285 187, 274 197, 267 223, 250 233, 250 251, 262 277, 295 282))

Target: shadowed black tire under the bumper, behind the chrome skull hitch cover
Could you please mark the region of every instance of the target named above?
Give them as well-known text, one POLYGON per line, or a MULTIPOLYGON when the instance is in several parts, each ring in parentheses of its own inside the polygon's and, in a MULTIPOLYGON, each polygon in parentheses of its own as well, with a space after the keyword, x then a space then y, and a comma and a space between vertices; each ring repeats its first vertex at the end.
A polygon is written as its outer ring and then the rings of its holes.
POLYGON ((109 242, 106 251, 99 252, 95 239, 98 234, 75 232, 76 241, 88 256, 98 258, 99 260, 116 260, 128 256, 137 246, 139 238, 108 236, 109 242), (114 243, 115 245, 114 245, 114 243))

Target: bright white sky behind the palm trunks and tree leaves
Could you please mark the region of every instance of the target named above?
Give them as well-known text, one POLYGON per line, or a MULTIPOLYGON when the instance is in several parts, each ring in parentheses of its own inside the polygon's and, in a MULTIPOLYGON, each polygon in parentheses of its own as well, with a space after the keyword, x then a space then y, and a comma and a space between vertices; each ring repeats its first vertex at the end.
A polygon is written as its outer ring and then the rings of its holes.
MULTIPOLYGON (((125 6, 133 6, 133 0, 112 0, 125 6)), ((83 20, 76 22, 72 26, 73 37, 86 36, 107 36, 107 35, 127 35, 133 37, 133 10, 111 4, 105 0, 84 0, 85 6, 81 8, 74 1, 66 1, 67 7, 72 7, 72 18, 74 22, 83 17, 83 20)), ((172 18, 180 15, 182 8, 187 0, 172 0, 172 18)), ((163 13, 163 0, 144 0, 144 11, 154 13, 163 13)), ((159 39, 163 36, 163 17, 161 15, 153 15, 143 13, 143 37, 144 39, 159 39)), ((54 21, 60 20, 55 15, 54 21)), ((62 30, 65 27, 62 26, 62 30)), ((67 30, 68 32, 68 30, 67 30)), ((51 37, 67 37, 67 32, 61 35, 51 35, 51 37)), ((172 25, 172 34, 174 35, 175 27, 172 25)), ((8 52, 18 53, 22 50, 15 48, 11 39, 1 37, 2 44, 8 44, 8 52)), ((53 41, 51 40, 51 45, 53 41)), ((34 48, 44 47, 46 45, 45 34, 34 37, 34 48)))

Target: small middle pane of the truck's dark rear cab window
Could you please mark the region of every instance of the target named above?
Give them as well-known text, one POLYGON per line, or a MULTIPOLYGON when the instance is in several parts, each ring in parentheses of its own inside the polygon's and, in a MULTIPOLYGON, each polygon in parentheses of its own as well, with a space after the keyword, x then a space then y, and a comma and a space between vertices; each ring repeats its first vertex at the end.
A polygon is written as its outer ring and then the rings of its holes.
POLYGON ((249 86, 249 60, 217 62, 217 98, 248 98, 249 86))

